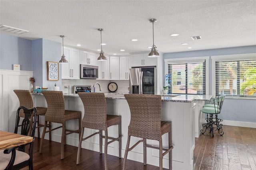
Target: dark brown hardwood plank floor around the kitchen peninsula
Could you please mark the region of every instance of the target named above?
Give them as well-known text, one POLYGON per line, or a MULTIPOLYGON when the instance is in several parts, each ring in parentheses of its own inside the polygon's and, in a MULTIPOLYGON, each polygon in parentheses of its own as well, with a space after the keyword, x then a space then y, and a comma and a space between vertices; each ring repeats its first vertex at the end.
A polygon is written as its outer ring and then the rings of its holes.
MULTIPOLYGON (((256 128, 223 126, 224 135, 208 131, 196 138, 194 170, 256 170, 256 128)), ((34 170, 102 170, 104 154, 82 149, 80 164, 76 165, 77 147, 66 145, 64 160, 60 160, 60 143, 44 142, 39 154, 40 140, 34 144, 34 170)), ((108 155, 109 170, 121 170, 123 158, 108 155)), ((23 168, 22 170, 27 170, 23 168)), ((127 161, 128 170, 158 170, 152 165, 127 161)))

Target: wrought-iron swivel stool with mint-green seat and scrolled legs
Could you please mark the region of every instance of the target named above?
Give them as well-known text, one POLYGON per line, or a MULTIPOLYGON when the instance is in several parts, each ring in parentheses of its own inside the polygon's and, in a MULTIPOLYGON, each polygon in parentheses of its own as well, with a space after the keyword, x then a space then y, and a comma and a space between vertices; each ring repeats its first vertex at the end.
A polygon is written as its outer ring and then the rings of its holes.
POLYGON ((218 130, 218 133, 222 136, 224 134, 223 131, 220 132, 222 129, 222 119, 218 119, 218 114, 220 114, 223 101, 225 99, 225 95, 216 96, 214 99, 210 100, 210 104, 206 104, 201 109, 202 113, 206 114, 206 123, 202 125, 203 129, 200 130, 202 134, 206 132, 206 129, 209 129, 212 132, 212 137, 214 137, 214 130, 218 130), (214 119, 215 115, 215 119, 214 119))

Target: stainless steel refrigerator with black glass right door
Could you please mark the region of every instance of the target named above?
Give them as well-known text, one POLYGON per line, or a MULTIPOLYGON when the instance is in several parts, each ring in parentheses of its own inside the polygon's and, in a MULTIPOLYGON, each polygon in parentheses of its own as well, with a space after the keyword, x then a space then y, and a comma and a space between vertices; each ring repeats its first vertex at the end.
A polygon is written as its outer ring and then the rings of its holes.
POLYGON ((156 94, 156 67, 132 67, 130 69, 131 94, 156 94))

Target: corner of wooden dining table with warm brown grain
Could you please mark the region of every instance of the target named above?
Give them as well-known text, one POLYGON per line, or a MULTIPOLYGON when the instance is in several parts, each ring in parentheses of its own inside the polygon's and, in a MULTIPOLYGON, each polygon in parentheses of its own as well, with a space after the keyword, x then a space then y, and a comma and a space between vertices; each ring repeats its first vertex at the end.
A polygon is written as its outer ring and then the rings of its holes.
POLYGON ((0 130, 0 150, 27 144, 33 137, 0 130))

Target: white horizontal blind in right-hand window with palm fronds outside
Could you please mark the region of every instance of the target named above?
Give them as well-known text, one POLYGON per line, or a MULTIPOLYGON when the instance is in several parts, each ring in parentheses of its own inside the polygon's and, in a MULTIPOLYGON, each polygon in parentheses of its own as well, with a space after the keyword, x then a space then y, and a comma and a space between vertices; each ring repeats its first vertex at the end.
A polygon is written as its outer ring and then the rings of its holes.
POLYGON ((256 59, 216 61, 216 95, 256 97, 256 59))

